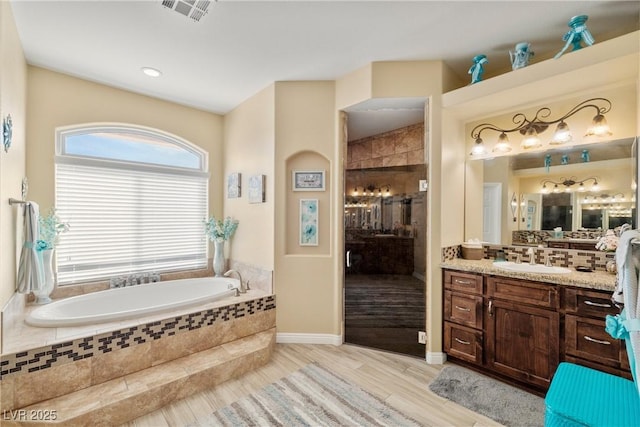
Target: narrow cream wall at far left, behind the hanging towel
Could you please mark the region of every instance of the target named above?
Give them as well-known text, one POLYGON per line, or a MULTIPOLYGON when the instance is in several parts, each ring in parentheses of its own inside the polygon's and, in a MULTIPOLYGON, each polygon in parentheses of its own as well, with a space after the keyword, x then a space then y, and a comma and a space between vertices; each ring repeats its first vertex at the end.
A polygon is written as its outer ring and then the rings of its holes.
MULTIPOLYGON (((15 27, 11 4, 0 2, 0 120, 11 115, 13 142, 0 147, 0 309, 16 287, 16 223, 19 208, 9 198, 21 198, 25 176, 27 64, 15 27)), ((0 327, 0 330, 2 328, 0 327)))

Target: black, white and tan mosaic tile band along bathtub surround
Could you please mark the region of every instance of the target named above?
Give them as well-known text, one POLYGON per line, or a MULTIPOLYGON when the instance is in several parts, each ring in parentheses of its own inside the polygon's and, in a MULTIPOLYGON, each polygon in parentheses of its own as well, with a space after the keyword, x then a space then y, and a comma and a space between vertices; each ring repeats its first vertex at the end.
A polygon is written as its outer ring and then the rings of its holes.
MULTIPOLYGON (((52 344, 0 359, 0 378, 35 372, 276 308, 275 295, 52 344)), ((0 381, 1 381, 0 379, 0 381)))

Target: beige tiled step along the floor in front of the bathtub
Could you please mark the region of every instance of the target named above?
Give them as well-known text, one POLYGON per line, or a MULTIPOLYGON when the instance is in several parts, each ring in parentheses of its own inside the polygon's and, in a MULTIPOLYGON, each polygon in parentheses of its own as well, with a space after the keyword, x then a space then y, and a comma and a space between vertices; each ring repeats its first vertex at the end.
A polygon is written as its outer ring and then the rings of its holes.
POLYGON ((265 364, 274 345, 272 328, 23 409, 55 409, 57 425, 122 424, 265 364))

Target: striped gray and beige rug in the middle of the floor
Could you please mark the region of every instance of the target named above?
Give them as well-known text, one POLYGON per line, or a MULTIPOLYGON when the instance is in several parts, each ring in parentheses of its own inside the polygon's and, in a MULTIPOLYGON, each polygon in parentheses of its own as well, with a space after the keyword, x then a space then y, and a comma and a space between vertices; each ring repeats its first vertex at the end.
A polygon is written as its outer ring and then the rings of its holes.
POLYGON ((226 406, 196 426, 419 426, 317 363, 226 406))

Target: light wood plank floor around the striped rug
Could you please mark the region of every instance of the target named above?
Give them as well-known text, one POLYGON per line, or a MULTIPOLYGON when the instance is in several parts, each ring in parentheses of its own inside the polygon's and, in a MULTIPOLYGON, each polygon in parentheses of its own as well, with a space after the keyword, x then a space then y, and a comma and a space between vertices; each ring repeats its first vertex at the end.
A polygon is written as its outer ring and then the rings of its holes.
POLYGON ((271 361, 262 368, 175 402, 125 426, 184 426, 193 423, 310 362, 332 369, 340 377, 385 400, 425 426, 500 425, 429 390, 428 384, 442 366, 349 344, 276 344, 271 361))

